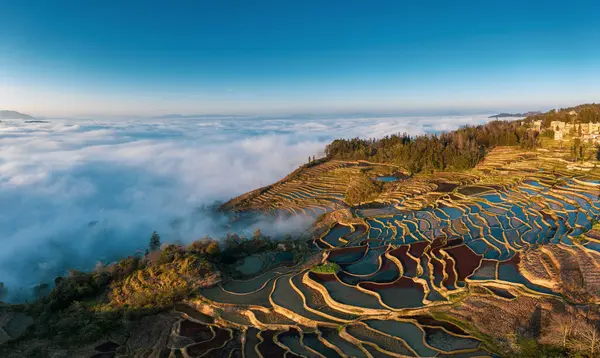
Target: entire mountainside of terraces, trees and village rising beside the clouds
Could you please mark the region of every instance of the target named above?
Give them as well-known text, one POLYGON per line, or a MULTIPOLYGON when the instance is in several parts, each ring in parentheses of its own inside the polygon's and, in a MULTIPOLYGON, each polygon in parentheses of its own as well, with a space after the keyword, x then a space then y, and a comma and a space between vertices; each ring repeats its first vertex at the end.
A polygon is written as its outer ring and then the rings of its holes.
POLYGON ((307 231, 189 246, 154 232, 143 256, 0 305, 0 353, 597 356, 600 133, 587 118, 600 112, 576 109, 333 141, 216 209, 238 227, 308 218, 307 231), (568 136, 557 120, 575 123, 568 136))

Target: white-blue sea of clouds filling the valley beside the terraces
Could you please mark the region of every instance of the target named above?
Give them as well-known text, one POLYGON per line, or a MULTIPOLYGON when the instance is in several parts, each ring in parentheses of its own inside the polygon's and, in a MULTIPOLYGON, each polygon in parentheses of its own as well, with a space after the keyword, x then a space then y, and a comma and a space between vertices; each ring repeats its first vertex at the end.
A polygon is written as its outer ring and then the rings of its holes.
MULTIPOLYGON (((233 230, 206 207, 270 184, 335 138, 421 134, 487 116, 0 122, 0 282, 22 297, 67 268, 233 230)), ((257 224, 270 235, 307 219, 257 224)), ((235 228, 251 233, 254 227, 235 228)))

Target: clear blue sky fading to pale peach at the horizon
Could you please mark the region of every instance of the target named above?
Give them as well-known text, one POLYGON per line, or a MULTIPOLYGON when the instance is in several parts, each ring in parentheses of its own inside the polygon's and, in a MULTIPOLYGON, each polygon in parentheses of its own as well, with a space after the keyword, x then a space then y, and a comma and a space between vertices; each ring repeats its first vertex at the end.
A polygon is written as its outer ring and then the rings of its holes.
POLYGON ((577 0, 0 0, 0 108, 266 114, 598 101, 598 14, 597 1, 577 0))

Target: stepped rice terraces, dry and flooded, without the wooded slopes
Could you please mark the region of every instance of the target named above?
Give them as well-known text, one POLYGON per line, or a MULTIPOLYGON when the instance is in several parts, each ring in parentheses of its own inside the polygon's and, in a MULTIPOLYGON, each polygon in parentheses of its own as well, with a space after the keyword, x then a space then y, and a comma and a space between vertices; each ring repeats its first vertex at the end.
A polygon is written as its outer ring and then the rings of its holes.
MULTIPOLYGON (((311 241, 339 271, 278 267, 204 289, 188 304, 232 329, 211 343, 223 355, 499 354, 510 342, 498 346, 492 337, 510 336, 535 311, 527 309, 600 301, 600 240, 592 230, 600 177, 563 156, 497 148, 472 171, 404 178, 374 203, 351 208, 334 177, 359 165, 315 167, 310 175, 319 180, 280 182, 236 209, 338 209, 311 241), (472 312, 496 317, 497 325, 472 312)), ((196 345, 182 354, 206 354, 196 345)))

